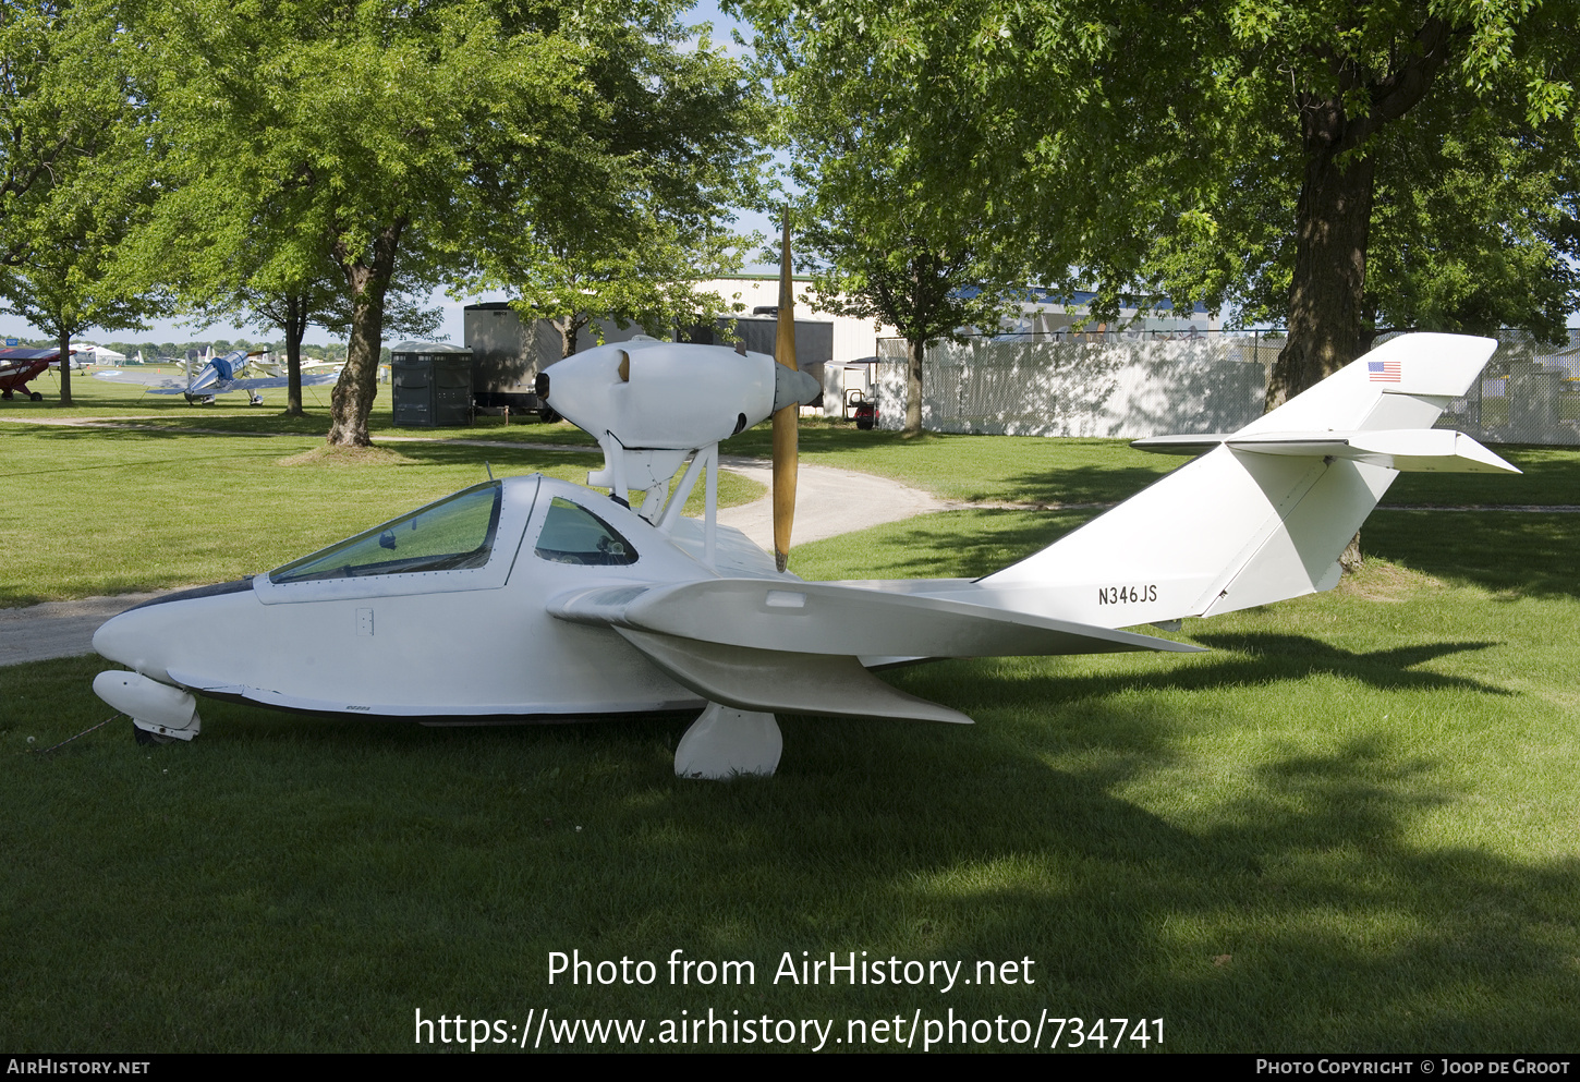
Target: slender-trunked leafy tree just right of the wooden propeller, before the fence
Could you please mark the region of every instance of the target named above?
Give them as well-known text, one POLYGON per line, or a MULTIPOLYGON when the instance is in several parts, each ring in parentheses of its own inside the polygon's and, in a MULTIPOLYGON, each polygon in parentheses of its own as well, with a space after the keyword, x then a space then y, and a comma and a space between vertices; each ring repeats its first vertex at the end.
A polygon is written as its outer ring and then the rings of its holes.
MULTIPOLYGON (((920 433, 926 343, 962 327, 995 327, 1024 294, 1025 261, 1005 243, 1006 207, 989 183, 992 167, 940 155, 932 137, 937 103, 926 87, 957 68, 937 51, 918 62, 913 38, 891 36, 874 6, 814 11, 765 0, 744 8, 758 28, 777 136, 803 193, 799 256, 814 269, 815 305, 901 332, 905 431, 920 433)), ((970 142, 956 134, 956 148, 970 142)))

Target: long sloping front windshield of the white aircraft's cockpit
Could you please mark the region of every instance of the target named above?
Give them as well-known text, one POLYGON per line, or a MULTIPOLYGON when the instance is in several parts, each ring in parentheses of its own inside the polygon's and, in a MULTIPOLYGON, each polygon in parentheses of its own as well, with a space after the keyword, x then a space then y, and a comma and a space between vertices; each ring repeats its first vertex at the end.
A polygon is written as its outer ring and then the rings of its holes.
POLYGON ((482 567, 493 553, 502 487, 487 482, 270 572, 273 583, 482 567))

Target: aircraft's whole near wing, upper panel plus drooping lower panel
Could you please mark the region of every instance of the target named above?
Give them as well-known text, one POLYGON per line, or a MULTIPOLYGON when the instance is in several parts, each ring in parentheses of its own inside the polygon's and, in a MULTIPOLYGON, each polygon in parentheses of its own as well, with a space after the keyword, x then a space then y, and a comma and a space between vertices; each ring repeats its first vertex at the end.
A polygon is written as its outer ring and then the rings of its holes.
POLYGON ((890 687, 860 657, 1201 649, 953 597, 763 578, 572 591, 551 597, 548 613, 613 629, 678 682, 725 706, 842 717, 970 720, 890 687))

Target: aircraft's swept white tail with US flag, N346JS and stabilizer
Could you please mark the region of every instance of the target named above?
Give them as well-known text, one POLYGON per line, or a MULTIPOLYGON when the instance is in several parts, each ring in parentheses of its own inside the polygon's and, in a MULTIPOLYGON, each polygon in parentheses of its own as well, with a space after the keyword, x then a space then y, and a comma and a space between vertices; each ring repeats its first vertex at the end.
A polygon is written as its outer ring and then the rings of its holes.
POLYGON ((1210 450, 978 586, 1005 608, 1103 627, 1330 589, 1400 471, 1520 472, 1469 436, 1431 430, 1496 346, 1405 335, 1237 433, 1136 441, 1210 450))

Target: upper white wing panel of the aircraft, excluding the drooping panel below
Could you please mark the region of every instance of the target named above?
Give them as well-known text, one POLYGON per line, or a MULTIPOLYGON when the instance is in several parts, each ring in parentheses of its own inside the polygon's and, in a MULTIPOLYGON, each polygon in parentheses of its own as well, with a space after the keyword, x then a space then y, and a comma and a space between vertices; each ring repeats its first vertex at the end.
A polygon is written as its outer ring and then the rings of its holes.
POLYGON ((967 600, 842 583, 709 578, 550 599, 551 616, 792 654, 1018 657, 1199 646, 967 600))

